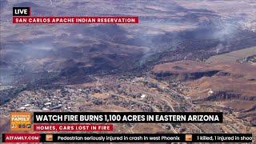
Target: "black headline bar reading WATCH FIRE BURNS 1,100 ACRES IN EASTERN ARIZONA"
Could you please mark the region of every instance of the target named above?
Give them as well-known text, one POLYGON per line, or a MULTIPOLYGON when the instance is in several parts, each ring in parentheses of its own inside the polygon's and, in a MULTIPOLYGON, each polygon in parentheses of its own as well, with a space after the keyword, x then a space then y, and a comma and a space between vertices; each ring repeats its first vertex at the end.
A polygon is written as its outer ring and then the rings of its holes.
POLYGON ((34 123, 223 122, 222 112, 34 112, 34 123))

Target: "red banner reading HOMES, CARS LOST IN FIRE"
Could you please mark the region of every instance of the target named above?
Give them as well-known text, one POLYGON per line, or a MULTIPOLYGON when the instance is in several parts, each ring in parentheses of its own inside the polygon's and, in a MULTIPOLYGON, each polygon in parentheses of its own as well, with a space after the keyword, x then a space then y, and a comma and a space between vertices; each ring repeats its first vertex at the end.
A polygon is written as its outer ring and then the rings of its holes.
POLYGON ((34 131, 113 131, 113 125, 34 124, 34 131))

